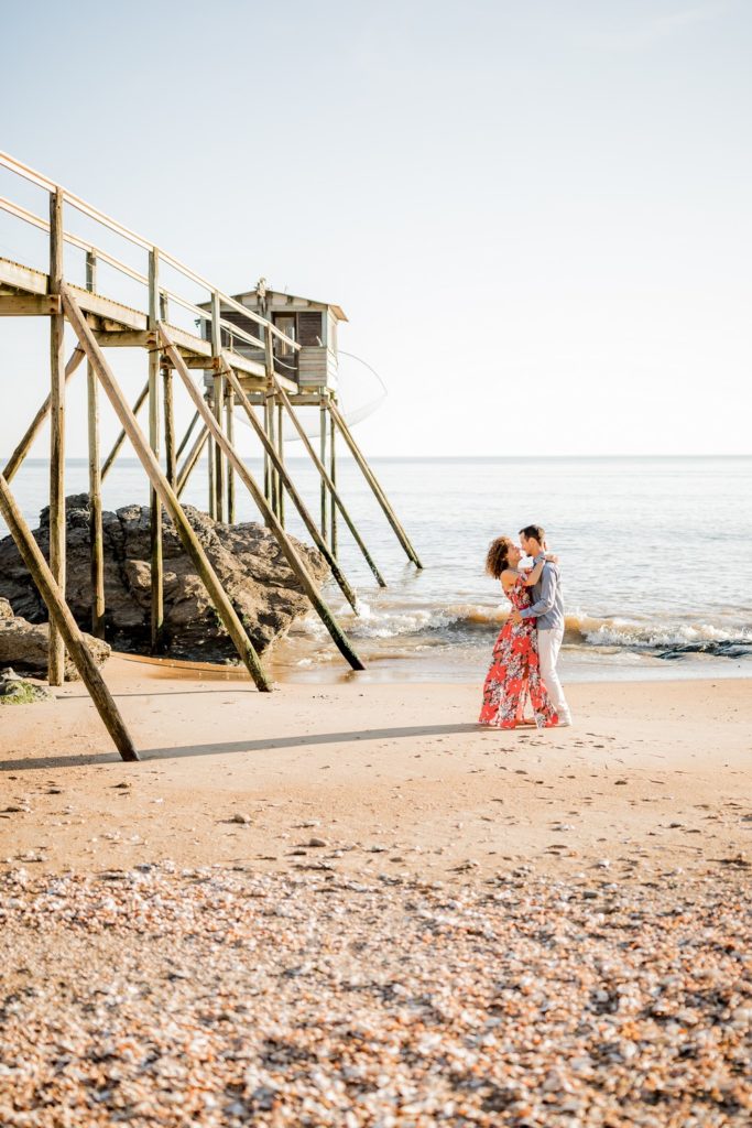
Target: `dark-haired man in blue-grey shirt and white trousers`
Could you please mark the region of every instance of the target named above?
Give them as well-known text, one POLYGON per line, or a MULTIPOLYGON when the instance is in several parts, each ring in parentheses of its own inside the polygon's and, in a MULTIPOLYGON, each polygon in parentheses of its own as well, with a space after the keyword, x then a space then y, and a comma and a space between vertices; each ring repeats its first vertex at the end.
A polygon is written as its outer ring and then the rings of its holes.
POLYGON ((520 529, 520 545, 527 556, 533 557, 536 564, 539 561, 545 561, 545 564, 540 580, 532 589, 530 607, 523 611, 514 611, 512 618, 515 623, 520 619, 536 619, 540 676, 559 715, 559 724, 569 725, 572 714, 556 672, 556 662, 564 641, 564 598, 559 570, 552 561, 546 559, 546 532, 539 525, 528 525, 524 529, 520 529))

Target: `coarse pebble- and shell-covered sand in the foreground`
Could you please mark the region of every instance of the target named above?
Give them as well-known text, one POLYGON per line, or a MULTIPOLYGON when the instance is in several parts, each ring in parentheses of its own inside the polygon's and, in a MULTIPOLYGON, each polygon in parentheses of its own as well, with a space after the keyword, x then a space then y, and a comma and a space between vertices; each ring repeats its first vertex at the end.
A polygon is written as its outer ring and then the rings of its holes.
POLYGON ((750 874, 0 878, 0 1125, 752 1123, 750 874))

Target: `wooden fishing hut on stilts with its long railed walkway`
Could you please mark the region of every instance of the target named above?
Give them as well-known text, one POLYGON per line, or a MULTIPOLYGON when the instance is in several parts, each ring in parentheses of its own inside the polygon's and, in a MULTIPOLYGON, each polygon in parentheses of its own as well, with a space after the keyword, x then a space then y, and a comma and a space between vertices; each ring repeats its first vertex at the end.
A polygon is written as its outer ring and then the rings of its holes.
MULTIPOLYGON (((48 325, 48 394, 0 473, 0 514, 28 567, 50 616, 50 685, 62 685, 64 652, 71 655, 121 756, 136 760, 138 752, 120 710, 97 669, 65 601, 65 387, 83 360, 87 361, 87 431, 89 446, 89 500, 91 513, 91 619, 90 629, 103 635, 105 624, 101 483, 126 440, 139 458, 151 486, 151 637, 158 646, 162 629, 163 569, 161 513, 167 511, 183 547, 201 576, 216 614, 240 660, 259 690, 272 688, 263 664, 211 561, 196 537, 180 503, 180 494, 206 442, 210 443, 210 513, 218 520, 235 520, 236 481, 248 490, 259 515, 276 538, 312 607, 333 641, 353 669, 363 669, 355 649, 327 606, 284 529, 285 494, 298 509, 306 528, 325 555, 335 581, 356 609, 356 597, 336 559, 338 511, 364 553, 379 583, 378 572, 336 486, 334 435, 339 433, 388 517, 408 558, 421 567, 415 549, 398 521, 383 490, 336 404, 336 332, 330 335, 331 311, 338 307, 273 294, 260 284, 246 301, 223 293, 191 267, 153 241, 130 230, 80 196, 61 187, 8 153, 0 152, 0 170, 14 184, 36 193, 36 206, 27 192, 15 199, 0 195, 0 211, 18 224, 42 232, 44 250, 20 253, 24 261, 0 257, 0 317, 33 317, 48 325), (15 178, 15 179, 14 179, 15 178), (45 203, 42 204, 41 201, 45 203), (86 233, 81 233, 81 220, 86 233), (118 243, 120 240, 120 243, 118 243), (115 254, 113 244, 127 246, 115 254), (133 264, 133 259, 138 264, 133 264), (76 259, 76 268, 73 267, 76 259), (107 283, 99 283, 105 267, 107 283), (82 275, 77 284, 72 277, 82 275), (124 301, 113 275, 126 280, 135 297, 124 301), (169 277, 169 284, 167 279, 169 277), (209 294, 209 300, 186 298, 185 288, 209 294), (275 308, 278 302, 278 308, 275 308), (295 306, 295 302, 300 303, 295 306), (286 307, 286 308, 284 308, 286 307), (193 318, 186 328, 185 318, 193 318), (285 317, 287 320, 285 320, 285 317), (306 318, 308 317, 308 320, 306 318), (313 334, 320 321, 319 333, 313 334), (294 318, 294 323, 292 320, 294 318), (203 332, 195 332, 196 321, 203 332), (68 360, 64 332, 69 326, 77 344, 68 360), (308 326, 308 328, 306 327, 308 326), (291 331, 285 333, 284 328, 291 331), (293 332, 294 331, 294 332, 293 332), (301 335, 315 344, 303 345, 301 335), (320 342, 320 343, 319 343, 320 342), (106 350, 141 349, 148 379, 131 405, 106 350), (304 353, 303 350, 312 350, 304 353), (331 358, 330 358, 331 353, 331 358), (302 358, 301 358, 301 354, 302 358), (203 370, 201 387, 193 370, 203 370), (176 379, 177 377, 177 379, 176 379), (183 389, 195 413, 182 441, 175 434, 174 397, 183 389), (99 393, 115 412, 120 435, 103 460, 99 441, 99 393), (321 412, 321 446, 313 449, 297 415, 299 405, 315 403, 321 412), (148 409, 148 433, 138 414, 148 409), (263 408, 259 420, 256 407, 263 408), (242 412, 256 432, 265 457, 265 481, 258 485, 239 456, 233 439, 236 412, 242 412), (43 423, 50 418, 50 558, 42 555, 10 488, 43 423), (284 465, 282 429, 289 420, 298 431, 321 477, 320 528, 308 513, 284 465), (328 429, 325 425, 328 423, 328 429), (329 434, 327 456, 326 434, 329 434), (194 433, 195 432, 195 433, 194 433), (191 444, 191 440, 193 443, 191 444), (189 446, 191 444, 191 446, 189 446), (180 456, 185 452, 180 465, 180 456), (329 519, 327 521, 327 510, 329 519)), ((38 238, 38 237, 37 237, 38 238)), ((339 311, 342 312, 342 311, 339 311)), ((344 315, 342 315, 344 318, 344 315)), ((339 318, 339 319, 342 319, 339 318)), ((336 326, 335 326, 336 328, 336 326)))

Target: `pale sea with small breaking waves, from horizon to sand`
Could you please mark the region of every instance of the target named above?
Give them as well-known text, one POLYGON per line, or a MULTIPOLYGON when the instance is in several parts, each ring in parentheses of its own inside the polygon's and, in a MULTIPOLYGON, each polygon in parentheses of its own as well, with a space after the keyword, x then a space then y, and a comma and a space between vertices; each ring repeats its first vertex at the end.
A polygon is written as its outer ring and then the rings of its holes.
MULTIPOLYGON (((318 476, 300 448, 286 461, 315 517, 318 476)), ((325 596, 366 670, 353 675, 315 614, 271 656, 287 681, 483 680, 507 603, 485 574, 489 543, 542 525, 559 556, 566 602, 564 681, 752 677, 752 458, 373 458, 371 466, 423 564, 410 564, 354 461, 337 485, 387 580, 380 589, 338 522, 339 563, 359 593, 325 596)), ((260 460, 248 461, 257 481, 260 460)), ((27 459, 14 481, 32 527, 46 504, 47 462, 27 459)), ((205 509, 196 469, 184 501, 205 509)), ((87 490, 87 462, 67 462, 67 493, 87 490)), ((257 520, 236 485, 238 520, 257 520)), ((106 509, 148 502, 138 460, 123 457, 104 485, 106 509)), ((286 527, 308 540, 287 499, 286 527)), ((0 526, 0 534, 7 530, 0 526)))

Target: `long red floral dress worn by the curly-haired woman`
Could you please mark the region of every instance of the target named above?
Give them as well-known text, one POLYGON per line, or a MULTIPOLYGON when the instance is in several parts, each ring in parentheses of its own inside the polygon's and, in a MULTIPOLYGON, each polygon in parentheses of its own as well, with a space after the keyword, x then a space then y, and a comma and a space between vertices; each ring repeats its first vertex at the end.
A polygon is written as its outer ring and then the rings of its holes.
MULTIPOLYGON (((506 593, 512 607, 521 611, 530 607, 530 591, 520 576, 506 593)), ((540 677, 538 632, 534 618, 513 623, 507 619, 494 644, 490 668, 483 688, 480 724, 497 729, 514 729, 522 720, 530 697, 536 724, 550 729, 558 715, 540 677)))

